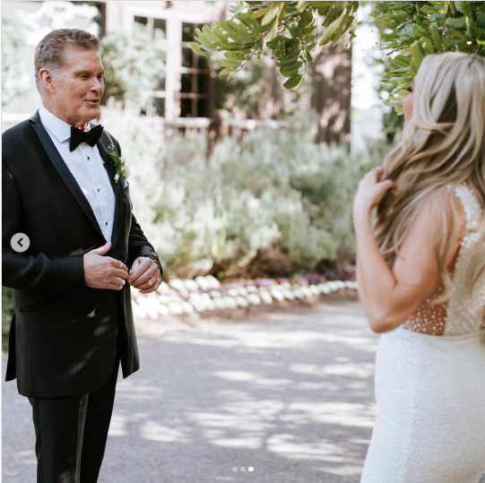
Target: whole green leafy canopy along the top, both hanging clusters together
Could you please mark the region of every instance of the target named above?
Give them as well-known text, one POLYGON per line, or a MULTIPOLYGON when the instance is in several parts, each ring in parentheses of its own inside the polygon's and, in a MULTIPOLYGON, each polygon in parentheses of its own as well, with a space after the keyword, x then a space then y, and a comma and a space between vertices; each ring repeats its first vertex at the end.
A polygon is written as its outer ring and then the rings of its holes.
MULTIPOLYGON (((400 111, 403 95, 424 56, 460 51, 485 55, 485 2, 372 2, 372 22, 380 32, 386 63, 388 104, 400 111)), ((255 54, 271 52, 287 89, 297 89, 313 63, 316 44, 355 37, 359 2, 236 2, 228 21, 196 29, 193 51, 223 52, 220 75, 238 72, 255 54), (320 17, 319 17, 320 16, 320 17), (324 18, 318 29, 318 18, 324 18)))

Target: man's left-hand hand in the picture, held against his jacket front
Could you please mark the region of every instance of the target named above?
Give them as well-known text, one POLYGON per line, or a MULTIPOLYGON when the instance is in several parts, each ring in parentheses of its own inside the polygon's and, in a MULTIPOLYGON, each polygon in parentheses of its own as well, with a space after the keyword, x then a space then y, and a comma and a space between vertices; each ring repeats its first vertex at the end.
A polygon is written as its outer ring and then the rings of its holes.
POLYGON ((100 248, 95 248, 84 254, 84 279, 86 285, 93 289, 121 290, 128 279, 128 267, 110 256, 108 253, 111 242, 106 242, 100 248))

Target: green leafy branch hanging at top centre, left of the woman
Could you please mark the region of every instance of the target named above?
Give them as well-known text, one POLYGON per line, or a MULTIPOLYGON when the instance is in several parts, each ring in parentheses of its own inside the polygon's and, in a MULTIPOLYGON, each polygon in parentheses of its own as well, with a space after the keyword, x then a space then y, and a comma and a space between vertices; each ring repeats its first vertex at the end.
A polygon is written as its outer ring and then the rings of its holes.
POLYGON ((350 30, 350 45, 358 6, 359 2, 236 2, 230 6, 230 20, 195 29, 196 42, 191 47, 200 56, 223 52, 220 75, 231 75, 252 56, 261 58, 265 46, 281 75, 288 78, 283 86, 297 89, 313 64, 311 53, 317 44, 334 45, 350 30), (325 17, 323 34, 318 31, 319 15, 325 17))

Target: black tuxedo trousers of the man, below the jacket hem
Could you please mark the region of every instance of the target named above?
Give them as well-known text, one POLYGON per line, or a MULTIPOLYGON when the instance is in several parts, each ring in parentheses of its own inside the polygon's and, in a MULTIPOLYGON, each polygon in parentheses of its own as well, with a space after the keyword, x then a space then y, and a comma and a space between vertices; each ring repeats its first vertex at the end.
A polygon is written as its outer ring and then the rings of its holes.
POLYGON ((98 481, 119 360, 117 349, 108 383, 98 391, 55 398, 29 397, 36 435, 37 483, 98 481))

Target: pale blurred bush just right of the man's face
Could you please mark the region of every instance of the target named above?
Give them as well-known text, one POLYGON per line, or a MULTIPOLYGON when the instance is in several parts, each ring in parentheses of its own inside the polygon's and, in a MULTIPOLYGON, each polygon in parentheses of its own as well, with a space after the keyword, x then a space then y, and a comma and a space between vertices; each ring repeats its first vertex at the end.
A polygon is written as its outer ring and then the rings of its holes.
POLYGON ((133 30, 113 30, 101 39, 106 95, 146 107, 151 91, 165 77, 167 43, 160 29, 153 37, 147 26, 134 23, 133 30))

